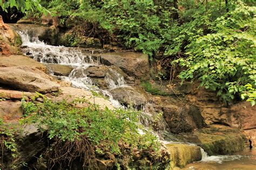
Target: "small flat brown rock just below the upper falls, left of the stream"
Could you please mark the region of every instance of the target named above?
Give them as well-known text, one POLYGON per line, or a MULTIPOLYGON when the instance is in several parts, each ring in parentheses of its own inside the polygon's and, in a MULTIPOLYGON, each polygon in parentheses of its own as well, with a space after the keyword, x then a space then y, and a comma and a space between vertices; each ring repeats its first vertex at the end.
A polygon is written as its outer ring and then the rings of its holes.
POLYGON ((68 65, 46 64, 46 67, 49 69, 50 73, 57 76, 69 76, 73 70, 73 67, 68 65))

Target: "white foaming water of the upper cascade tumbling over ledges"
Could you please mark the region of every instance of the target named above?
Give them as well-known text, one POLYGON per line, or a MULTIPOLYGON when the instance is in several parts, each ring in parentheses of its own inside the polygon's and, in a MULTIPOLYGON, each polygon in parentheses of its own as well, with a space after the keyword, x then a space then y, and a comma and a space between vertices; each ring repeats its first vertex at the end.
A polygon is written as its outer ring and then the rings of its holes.
MULTIPOLYGON (((18 33, 22 38, 23 52, 26 55, 42 63, 71 65, 74 67, 72 72, 67 77, 59 76, 61 79, 70 81, 72 86, 77 88, 101 92, 103 95, 109 97, 113 107, 122 107, 118 101, 113 99, 109 91, 100 90, 93 86, 93 81, 83 72, 83 70, 90 66, 100 65, 98 57, 95 57, 95 59, 92 58, 93 51, 91 53, 85 53, 80 48, 46 45, 38 37, 29 35, 28 31, 18 31, 18 33), (79 76, 77 76, 78 71, 79 76)), ((127 86, 122 75, 111 68, 109 70, 111 74, 107 73, 105 77, 109 89, 127 86)))

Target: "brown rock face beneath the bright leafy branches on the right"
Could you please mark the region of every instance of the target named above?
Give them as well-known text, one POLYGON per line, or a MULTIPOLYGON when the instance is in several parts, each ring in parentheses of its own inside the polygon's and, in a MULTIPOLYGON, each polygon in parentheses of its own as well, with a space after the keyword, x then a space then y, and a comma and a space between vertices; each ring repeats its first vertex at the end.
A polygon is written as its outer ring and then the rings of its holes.
POLYGON ((250 102, 235 103, 226 107, 218 101, 214 92, 196 87, 186 97, 199 107, 208 125, 224 124, 244 130, 256 128, 256 123, 252 121, 256 119, 256 109, 255 106, 251 106, 250 102))

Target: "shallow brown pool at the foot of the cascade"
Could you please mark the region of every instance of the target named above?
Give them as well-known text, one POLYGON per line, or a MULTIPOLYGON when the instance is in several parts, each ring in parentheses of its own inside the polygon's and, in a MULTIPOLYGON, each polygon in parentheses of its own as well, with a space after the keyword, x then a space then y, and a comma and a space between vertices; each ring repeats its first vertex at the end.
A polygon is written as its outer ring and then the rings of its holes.
POLYGON ((189 170, 212 170, 212 169, 255 169, 256 170, 256 148, 245 150, 234 155, 211 156, 200 162, 188 164, 183 169, 189 170))

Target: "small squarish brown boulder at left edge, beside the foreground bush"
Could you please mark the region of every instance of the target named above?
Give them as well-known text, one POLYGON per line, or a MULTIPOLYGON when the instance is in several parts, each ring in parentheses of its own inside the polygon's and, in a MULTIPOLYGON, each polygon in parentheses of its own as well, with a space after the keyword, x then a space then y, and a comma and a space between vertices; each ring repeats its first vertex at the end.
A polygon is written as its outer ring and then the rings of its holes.
MULTIPOLYGON (((1 99, 1 97, 0 97, 1 99)), ((1 101, 0 100, 0 118, 12 121, 23 116, 22 102, 20 101, 1 101)))

